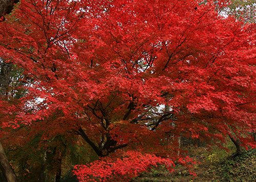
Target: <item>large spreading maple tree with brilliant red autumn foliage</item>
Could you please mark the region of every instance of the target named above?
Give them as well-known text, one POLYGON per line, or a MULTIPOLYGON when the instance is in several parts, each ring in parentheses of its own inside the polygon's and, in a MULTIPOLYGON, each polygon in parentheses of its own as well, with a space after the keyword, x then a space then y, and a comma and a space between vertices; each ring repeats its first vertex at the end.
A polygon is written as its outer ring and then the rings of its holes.
POLYGON ((181 135, 254 146, 255 25, 213 2, 22 0, 6 18, 1 57, 33 84, 5 126, 79 134, 109 166, 150 153, 136 171, 180 158, 181 135))

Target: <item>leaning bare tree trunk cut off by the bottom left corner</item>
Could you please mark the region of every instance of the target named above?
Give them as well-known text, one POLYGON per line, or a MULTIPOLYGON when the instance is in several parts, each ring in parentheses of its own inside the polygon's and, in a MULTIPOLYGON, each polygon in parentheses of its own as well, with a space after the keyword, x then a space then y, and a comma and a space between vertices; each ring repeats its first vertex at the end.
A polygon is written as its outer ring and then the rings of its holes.
POLYGON ((7 182, 18 182, 17 176, 15 175, 11 165, 7 160, 2 143, 0 142, 0 168, 3 171, 3 174, 7 182))

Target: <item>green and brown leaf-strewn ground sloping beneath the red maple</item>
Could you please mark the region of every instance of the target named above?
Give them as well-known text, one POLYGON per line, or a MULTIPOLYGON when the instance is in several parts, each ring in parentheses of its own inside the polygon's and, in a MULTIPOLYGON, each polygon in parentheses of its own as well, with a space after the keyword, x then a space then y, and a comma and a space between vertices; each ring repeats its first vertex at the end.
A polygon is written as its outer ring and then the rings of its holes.
POLYGON ((181 165, 176 165, 175 172, 159 166, 141 173, 132 182, 255 182, 256 150, 247 150, 240 156, 234 156, 232 150, 191 147, 189 156, 200 162, 193 169, 197 176, 190 175, 181 165))

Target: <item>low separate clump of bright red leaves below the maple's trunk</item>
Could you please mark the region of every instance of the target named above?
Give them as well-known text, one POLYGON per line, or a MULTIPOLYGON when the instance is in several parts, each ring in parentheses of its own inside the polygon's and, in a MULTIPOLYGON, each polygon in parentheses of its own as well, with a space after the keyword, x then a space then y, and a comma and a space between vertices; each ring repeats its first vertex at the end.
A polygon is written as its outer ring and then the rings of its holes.
POLYGON ((101 161, 89 165, 75 166, 74 174, 79 181, 129 181, 140 172, 158 164, 165 165, 170 171, 175 167, 172 160, 129 151, 119 154, 118 158, 104 157, 101 161))

